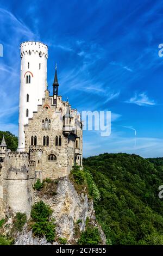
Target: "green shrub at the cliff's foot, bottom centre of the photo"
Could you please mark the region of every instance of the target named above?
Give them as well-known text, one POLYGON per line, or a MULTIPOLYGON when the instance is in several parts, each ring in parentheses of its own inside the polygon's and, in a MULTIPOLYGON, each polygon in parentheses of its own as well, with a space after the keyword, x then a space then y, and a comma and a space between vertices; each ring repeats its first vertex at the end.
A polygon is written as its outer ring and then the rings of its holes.
POLYGON ((89 226, 82 232, 78 245, 99 245, 100 242, 101 237, 99 236, 98 228, 89 226))

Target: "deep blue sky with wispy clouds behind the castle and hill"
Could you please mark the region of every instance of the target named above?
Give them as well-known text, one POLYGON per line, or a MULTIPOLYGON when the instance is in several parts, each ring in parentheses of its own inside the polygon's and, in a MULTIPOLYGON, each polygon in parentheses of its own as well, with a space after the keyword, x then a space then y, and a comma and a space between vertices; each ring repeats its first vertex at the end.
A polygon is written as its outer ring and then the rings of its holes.
POLYGON ((20 43, 48 45, 48 88, 58 63, 59 94, 82 111, 111 111, 111 135, 84 131, 84 156, 163 156, 162 1, 0 3, 0 130, 17 135, 20 43), (136 136, 135 136, 136 131, 136 136))

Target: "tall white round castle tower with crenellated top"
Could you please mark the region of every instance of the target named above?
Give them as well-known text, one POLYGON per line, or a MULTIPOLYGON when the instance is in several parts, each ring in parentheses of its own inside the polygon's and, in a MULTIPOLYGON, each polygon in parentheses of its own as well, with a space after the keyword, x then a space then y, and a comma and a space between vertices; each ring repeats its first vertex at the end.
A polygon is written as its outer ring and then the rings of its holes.
POLYGON ((21 84, 18 124, 18 149, 24 151, 24 125, 42 104, 47 87, 48 47, 42 42, 27 41, 21 45, 21 84))

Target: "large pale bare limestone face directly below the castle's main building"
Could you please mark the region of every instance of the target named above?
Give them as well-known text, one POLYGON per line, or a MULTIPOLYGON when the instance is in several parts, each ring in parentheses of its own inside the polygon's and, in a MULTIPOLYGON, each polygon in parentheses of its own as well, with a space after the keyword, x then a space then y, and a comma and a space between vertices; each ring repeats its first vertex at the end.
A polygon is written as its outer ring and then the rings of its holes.
POLYGON ((57 186, 57 195, 46 199, 45 196, 35 196, 35 202, 43 200, 53 210, 55 218, 56 234, 65 237, 68 243, 76 241, 76 223, 80 220, 79 229, 84 231, 86 218, 88 217, 94 226, 97 226, 101 234, 102 242, 106 239, 103 230, 96 223, 93 201, 88 200, 87 194, 78 194, 68 177, 60 178, 57 186))

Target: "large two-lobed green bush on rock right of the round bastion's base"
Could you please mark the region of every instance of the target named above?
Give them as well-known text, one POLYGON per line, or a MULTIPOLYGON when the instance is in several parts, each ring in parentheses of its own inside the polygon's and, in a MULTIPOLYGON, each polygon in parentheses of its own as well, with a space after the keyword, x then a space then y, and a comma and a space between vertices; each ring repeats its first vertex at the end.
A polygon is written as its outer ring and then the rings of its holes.
POLYGON ((53 242, 55 239, 54 220, 49 221, 51 215, 52 209, 42 201, 36 203, 31 211, 31 217, 35 221, 32 224, 34 235, 39 237, 45 235, 48 242, 53 242))

